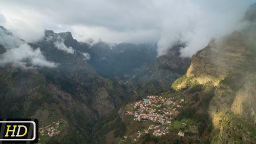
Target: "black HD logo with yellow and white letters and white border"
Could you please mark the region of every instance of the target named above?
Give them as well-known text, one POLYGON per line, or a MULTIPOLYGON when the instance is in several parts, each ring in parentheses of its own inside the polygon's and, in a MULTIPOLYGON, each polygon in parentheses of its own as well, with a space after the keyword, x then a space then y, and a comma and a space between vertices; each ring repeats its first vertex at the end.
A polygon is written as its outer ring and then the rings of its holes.
POLYGON ((0 144, 36 144, 37 142, 37 119, 0 119, 0 144))

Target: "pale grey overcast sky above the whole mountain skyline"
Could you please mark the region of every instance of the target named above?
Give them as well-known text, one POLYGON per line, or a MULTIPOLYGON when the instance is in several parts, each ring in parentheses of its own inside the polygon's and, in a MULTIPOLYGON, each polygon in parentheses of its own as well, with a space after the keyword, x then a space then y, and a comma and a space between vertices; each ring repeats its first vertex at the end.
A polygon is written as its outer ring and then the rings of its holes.
POLYGON ((70 31, 78 41, 158 43, 163 55, 176 41, 192 56, 216 34, 238 25, 256 0, 1 0, 0 25, 28 42, 70 31))

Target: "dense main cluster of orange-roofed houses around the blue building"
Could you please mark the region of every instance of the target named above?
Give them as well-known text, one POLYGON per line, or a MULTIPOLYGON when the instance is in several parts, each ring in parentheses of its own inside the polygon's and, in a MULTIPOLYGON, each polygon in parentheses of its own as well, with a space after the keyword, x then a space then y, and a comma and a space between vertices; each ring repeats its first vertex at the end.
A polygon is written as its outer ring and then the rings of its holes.
POLYGON ((137 121, 151 120, 160 124, 169 124, 172 120, 171 115, 179 114, 179 112, 176 111, 176 107, 181 107, 180 105, 177 105, 178 102, 184 101, 184 99, 181 99, 180 101, 172 101, 172 99, 174 98, 162 98, 161 96, 150 95, 147 96, 147 99, 136 101, 131 104, 136 111, 126 112, 128 115, 134 115, 134 120, 137 121), (170 108, 169 106, 175 108, 170 108))

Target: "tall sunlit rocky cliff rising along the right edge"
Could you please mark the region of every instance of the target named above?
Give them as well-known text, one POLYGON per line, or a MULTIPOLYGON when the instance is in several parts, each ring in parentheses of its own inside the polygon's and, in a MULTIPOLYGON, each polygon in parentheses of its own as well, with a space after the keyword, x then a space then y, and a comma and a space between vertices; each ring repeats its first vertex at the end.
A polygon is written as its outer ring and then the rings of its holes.
POLYGON ((192 57, 187 71, 192 82, 211 81, 215 85, 208 109, 216 130, 213 143, 249 143, 256 138, 256 23, 252 14, 255 6, 246 13, 243 22, 247 25, 243 29, 211 40, 192 57))

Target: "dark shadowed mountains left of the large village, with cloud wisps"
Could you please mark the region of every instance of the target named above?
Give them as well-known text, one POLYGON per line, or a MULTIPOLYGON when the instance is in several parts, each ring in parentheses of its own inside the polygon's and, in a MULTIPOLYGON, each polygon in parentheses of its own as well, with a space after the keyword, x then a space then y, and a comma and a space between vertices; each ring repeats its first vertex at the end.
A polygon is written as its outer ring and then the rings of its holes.
MULTIPOLYGON (((115 117, 117 108, 137 98, 136 79, 159 63, 156 49, 155 44, 80 43, 70 32, 52 30, 45 30, 37 42, 26 43, 1 26, 0 117, 37 118, 43 130, 60 123, 60 134, 40 134, 42 143, 94 143, 95 124, 115 117)), ((161 59, 177 59, 178 50, 161 59)))

